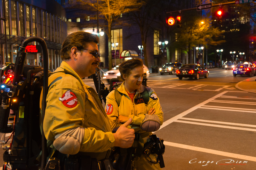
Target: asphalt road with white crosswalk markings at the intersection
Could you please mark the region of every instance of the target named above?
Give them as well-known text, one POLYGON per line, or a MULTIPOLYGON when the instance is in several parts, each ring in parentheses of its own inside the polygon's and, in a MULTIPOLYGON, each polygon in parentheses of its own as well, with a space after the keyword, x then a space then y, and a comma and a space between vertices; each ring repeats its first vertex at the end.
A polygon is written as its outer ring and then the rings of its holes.
MULTIPOLYGON (((164 170, 255 169, 256 94, 235 89, 247 78, 224 69, 199 80, 148 78, 164 112, 164 124, 155 132, 166 147, 164 170)), ((84 82, 94 87, 92 80, 84 82)), ((2 151, 0 165, 1 157, 2 151)))

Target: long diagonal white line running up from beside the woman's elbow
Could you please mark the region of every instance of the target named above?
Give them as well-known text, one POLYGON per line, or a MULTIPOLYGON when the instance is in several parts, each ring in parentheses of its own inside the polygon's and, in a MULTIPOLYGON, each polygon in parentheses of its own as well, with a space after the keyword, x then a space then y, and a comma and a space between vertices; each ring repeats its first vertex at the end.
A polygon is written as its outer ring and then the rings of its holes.
MULTIPOLYGON (((172 122, 174 122, 174 121, 180 119, 181 117, 187 115, 188 113, 190 113, 190 112, 192 112, 192 111, 194 111, 194 110, 196 110, 196 109, 202 107, 204 104, 209 103, 209 102, 211 102, 212 100, 214 100, 214 99, 216 99, 216 98, 218 98, 218 97, 224 95, 224 94, 227 93, 227 92, 228 92, 228 91, 223 91, 223 92, 221 92, 220 94, 218 94, 218 95, 216 95, 216 96, 213 96, 212 98, 210 98, 210 99, 208 99, 208 100, 206 100, 206 101, 204 101, 204 102, 202 102, 202 103, 200 103, 200 104, 197 104, 196 106, 194 106, 194 107, 192 107, 192 108, 190 108, 190 109, 188 109, 188 110, 186 110, 186 111, 180 113, 179 115, 174 116, 174 117, 170 118, 169 120, 166 120, 166 121, 163 123, 163 125, 160 126, 159 130, 162 129, 162 128, 164 128, 165 126, 171 124, 172 122)), ((159 131, 159 130, 158 130, 158 131, 159 131)))

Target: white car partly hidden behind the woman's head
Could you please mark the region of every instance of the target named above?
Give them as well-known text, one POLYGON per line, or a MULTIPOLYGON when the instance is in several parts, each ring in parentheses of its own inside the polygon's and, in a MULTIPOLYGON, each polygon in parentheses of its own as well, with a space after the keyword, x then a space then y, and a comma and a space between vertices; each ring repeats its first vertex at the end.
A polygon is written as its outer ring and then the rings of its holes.
MULTIPOLYGON (((102 80, 108 80, 108 83, 110 82, 110 79, 112 78, 117 78, 117 76, 120 76, 120 72, 119 72, 119 66, 120 64, 116 65, 116 67, 112 68, 112 70, 109 70, 106 72, 106 74, 103 74, 102 80)), ((144 70, 144 74, 146 75, 146 77, 149 77, 149 70, 148 67, 145 66, 143 64, 143 70, 144 70)))

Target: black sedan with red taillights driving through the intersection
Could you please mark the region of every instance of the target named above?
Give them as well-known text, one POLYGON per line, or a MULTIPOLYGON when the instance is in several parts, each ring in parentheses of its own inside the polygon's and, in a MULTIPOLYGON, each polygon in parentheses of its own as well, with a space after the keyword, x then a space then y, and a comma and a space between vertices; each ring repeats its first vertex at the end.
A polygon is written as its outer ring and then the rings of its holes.
POLYGON ((177 77, 181 80, 185 78, 195 78, 196 80, 199 77, 208 78, 209 71, 201 66, 200 64, 185 64, 176 70, 177 77))

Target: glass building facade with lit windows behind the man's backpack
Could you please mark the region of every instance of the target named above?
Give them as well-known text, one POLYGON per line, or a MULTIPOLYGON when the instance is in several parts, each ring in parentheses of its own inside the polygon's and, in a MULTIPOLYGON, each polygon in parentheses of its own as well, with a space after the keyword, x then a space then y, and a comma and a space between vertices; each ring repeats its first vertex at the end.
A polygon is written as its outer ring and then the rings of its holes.
MULTIPOLYGON (((0 0, 0 15, 1 66, 5 62, 15 63, 21 42, 31 36, 45 40, 49 69, 60 66, 61 44, 67 37, 66 12, 61 4, 54 0, 0 0)), ((25 64, 43 67, 43 53, 28 53, 25 64)))

